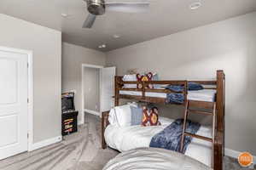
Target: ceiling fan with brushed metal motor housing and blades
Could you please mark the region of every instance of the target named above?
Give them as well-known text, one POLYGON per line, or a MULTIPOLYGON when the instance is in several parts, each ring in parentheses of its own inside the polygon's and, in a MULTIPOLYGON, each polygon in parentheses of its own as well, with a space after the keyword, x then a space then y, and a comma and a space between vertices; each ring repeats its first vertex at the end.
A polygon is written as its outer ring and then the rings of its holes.
MULTIPOLYGON (((148 9, 148 1, 133 1, 129 3, 108 3, 108 0, 84 0, 87 3, 89 15, 84 21, 83 28, 91 28, 97 15, 105 14, 106 10, 123 13, 141 13, 148 9)), ((119 0, 118 0, 119 1, 119 0)))

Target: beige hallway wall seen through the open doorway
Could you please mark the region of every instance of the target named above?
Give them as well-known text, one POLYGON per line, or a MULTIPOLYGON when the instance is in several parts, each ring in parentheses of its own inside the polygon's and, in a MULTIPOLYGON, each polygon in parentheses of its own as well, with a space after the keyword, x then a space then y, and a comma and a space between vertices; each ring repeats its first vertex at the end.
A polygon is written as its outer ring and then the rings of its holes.
POLYGON ((84 67, 84 109, 100 111, 100 69, 84 67))

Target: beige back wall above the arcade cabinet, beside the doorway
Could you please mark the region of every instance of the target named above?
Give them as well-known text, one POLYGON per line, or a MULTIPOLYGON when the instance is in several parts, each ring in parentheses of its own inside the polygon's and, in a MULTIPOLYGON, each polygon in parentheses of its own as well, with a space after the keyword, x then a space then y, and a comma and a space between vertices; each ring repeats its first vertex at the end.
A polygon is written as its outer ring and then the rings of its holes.
POLYGON ((62 43, 62 91, 76 90, 75 106, 79 113, 82 111, 82 64, 105 65, 105 62, 106 54, 102 52, 62 43))

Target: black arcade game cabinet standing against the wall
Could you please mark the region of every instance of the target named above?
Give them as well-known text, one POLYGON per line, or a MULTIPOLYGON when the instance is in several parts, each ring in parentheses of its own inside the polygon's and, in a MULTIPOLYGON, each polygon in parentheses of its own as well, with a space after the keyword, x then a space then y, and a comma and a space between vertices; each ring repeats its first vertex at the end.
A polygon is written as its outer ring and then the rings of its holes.
POLYGON ((78 131, 79 111, 75 111, 74 93, 61 95, 61 133, 65 136, 78 131))

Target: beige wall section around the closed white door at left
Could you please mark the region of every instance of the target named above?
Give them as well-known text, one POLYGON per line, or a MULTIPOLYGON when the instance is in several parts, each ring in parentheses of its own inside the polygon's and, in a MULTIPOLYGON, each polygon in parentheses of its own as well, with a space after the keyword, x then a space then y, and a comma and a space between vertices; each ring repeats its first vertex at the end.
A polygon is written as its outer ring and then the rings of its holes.
POLYGON ((0 46, 32 50, 34 143, 61 135, 61 32, 0 14, 0 46))

